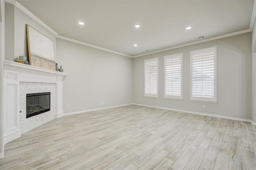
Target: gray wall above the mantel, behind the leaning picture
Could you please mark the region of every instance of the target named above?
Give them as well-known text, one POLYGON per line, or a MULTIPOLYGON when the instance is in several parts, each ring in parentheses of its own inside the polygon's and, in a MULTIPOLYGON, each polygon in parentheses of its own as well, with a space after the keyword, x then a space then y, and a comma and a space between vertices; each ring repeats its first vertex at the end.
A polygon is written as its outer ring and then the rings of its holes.
MULTIPOLYGON (((56 36, 48 31, 41 24, 36 22, 30 16, 22 12, 16 6, 6 3, 6 60, 14 61, 20 55, 28 57, 28 43, 26 34, 26 24, 38 30, 48 38, 54 41, 56 49, 56 36)), ((56 52, 56 50, 55 50, 56 52)), ((56 58, 56 55, 55 55, 56 58)))

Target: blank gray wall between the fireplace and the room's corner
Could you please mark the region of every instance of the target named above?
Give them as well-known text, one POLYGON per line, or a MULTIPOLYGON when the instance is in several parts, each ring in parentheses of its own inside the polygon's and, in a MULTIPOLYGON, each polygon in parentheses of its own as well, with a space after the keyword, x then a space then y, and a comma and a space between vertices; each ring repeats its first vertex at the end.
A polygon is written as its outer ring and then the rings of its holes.
POLYGON ((56 63, 68 73, 64 113, 132 103, 132 58, 59 38, 56 44, 56 63))

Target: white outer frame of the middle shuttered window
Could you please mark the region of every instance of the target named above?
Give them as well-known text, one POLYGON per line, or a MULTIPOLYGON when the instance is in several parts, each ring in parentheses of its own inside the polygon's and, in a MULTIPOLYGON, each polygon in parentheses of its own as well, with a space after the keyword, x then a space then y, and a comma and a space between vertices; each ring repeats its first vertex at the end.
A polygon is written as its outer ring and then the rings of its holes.
POLYGON ((178 53, 178 54, 172 54, 172 55, 166 55, 164 56, 164 99, 174 99, 174 100, 183 100, 183 53, 178 53), (166 62, 165 60, 167 58, 173 58, 173 57, 180 57, 180 63, 181 63, 181 68, 180 68, 180 80, 181 80, 181 84, 180 84, 180 90, 181 90, 181 93, 180 93, 180 96, 175 96, 175 95, 166 95, 166 91, 165 91, 165 88, 166 88, 166 62))

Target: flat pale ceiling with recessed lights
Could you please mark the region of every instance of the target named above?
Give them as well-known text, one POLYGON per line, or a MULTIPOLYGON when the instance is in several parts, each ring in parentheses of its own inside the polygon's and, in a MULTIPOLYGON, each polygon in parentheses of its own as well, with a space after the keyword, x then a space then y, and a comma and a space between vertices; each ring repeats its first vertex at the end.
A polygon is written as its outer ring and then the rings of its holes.
POLYGON ((254 6, 254 0, 17 1, 60 36, 131 56, 249 29, 254 6))

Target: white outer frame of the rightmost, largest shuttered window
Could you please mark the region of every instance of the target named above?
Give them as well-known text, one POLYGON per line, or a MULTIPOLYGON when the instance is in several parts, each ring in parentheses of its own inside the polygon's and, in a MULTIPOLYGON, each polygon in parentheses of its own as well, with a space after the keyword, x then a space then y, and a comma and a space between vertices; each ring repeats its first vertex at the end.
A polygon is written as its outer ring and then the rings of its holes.
POLYGON ((190 101, 205 102, 205 103, 217 103, 217 47, 209 47, 204 49, 198 49, 190 51, 190 101), (214 98, 208 97, 193 97, 192 96, 192 54, 193 53, 204 53, 214 51, 214 98))

